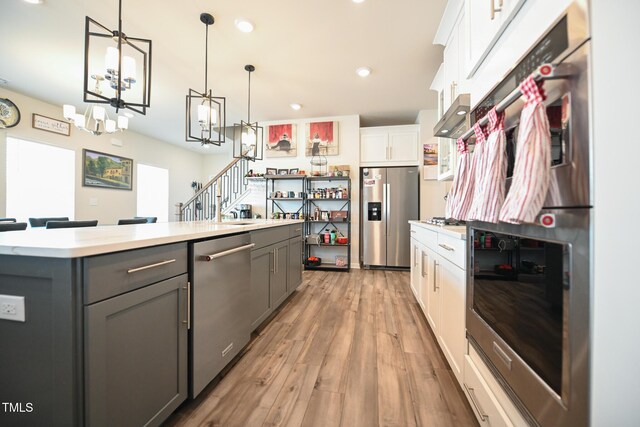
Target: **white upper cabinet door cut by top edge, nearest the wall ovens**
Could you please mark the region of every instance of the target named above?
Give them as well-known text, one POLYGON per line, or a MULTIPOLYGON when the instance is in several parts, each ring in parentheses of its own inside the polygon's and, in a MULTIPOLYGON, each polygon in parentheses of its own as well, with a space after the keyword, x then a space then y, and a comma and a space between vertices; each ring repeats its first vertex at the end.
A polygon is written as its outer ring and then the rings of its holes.
POLYGON ((469 0, 465 3, 469 49, 465 77, 472 77, 526 0, 469 0))

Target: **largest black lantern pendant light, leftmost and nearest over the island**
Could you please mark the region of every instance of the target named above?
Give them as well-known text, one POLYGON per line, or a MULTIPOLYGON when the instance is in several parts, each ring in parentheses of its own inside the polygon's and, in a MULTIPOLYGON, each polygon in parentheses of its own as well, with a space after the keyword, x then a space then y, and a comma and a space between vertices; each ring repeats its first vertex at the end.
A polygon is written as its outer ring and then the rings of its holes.
POLYGON ((110 30, 87 16, 84 41, 84 102, 109 104, 116 113, 127 108, 146 114, 151 98, 151 40, 122 32, 122 0, 118 29, 110 30))

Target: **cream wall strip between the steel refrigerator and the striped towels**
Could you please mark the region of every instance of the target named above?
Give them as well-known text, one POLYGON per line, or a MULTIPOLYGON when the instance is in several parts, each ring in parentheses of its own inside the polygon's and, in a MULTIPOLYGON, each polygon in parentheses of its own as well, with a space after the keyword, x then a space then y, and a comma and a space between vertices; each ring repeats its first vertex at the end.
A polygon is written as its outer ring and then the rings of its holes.
MULTIPOLYGON (((418 114, 420 124, 420 150, 422 159, 423 144, 437 144, 438 138, 433 136, 433 127, 437 123, 437 110, 421 110, 418 114)), ((444 196, 449 192, 452 181, 424 180, 420 166, 420 219, 444 216, 446 202, 444 196)))

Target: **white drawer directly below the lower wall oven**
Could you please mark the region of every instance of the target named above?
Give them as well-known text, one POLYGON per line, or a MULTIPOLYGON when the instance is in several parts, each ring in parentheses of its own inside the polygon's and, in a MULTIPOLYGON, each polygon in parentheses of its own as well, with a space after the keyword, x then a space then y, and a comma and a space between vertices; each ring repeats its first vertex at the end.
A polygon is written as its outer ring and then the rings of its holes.
POLYGON ((513 426, 469 356, 464 361, 463 388, 481 426, 513 426))

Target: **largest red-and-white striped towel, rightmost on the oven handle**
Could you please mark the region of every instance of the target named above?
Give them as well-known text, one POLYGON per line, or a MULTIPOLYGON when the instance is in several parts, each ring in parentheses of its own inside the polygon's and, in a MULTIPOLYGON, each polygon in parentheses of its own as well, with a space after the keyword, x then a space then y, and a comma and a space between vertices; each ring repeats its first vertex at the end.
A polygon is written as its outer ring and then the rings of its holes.
POLYGON ((544 204, 551 173, 551 132, 542 101, 544 91, 533 77, 520 84, 526 103, 520 130, 511 188, 500 211, 500 221, 534 222, 544 204))

